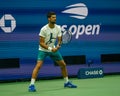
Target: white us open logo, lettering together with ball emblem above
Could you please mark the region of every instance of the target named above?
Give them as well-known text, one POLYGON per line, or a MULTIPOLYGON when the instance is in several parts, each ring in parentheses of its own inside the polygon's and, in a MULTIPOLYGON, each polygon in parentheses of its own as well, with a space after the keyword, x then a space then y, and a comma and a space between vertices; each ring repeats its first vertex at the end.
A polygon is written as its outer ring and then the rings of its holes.
MULTIPOLYGON (((61 12, 62 14, 67 14, 69 17, 75 18, 77 20, 85 20, 88 16, 88 8, 83 3, 76 3, 65 7, 65 10, 61 12)), ((69 30, 72 35, 75 35, 75 39, 79 39, 81 35, 99 35, 100 34, 100 24, 72 24, 68 26, 67 24, 61 25, 62 30, 69 30)))

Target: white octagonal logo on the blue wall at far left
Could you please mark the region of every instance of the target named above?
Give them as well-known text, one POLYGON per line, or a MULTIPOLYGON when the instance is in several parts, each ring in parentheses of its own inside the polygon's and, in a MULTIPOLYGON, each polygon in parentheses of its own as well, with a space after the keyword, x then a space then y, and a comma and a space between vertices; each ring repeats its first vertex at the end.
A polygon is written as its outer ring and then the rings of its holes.
POLYGON ((0 27, 5 33, 11 33, 16 27, 16 20, 11 14, 5 14, 0 19, 0 27), (6 26, 6 22, 9 22, 9 26, 6 26))

